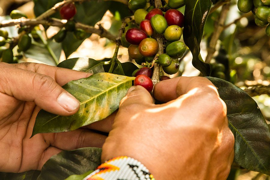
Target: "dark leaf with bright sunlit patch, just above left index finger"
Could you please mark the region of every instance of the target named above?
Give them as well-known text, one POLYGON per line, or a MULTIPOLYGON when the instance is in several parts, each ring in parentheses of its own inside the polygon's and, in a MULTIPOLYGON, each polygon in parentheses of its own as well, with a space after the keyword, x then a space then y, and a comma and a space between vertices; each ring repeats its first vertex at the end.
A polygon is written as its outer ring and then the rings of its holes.
POLYGON ((91 58, 72 58, 62 61, 57 67, 78 70, 86 73, 104 73, 103 63, 91 58))

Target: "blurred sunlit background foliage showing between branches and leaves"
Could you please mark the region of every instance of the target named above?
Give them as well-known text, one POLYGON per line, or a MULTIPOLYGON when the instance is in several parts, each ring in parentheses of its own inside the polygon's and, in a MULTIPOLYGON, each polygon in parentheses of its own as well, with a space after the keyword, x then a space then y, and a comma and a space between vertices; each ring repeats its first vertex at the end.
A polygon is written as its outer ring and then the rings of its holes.
MULTIPOLYGON (((214 3, 222 2, 213 0, 214 3)), ((116 3, 116 2, 115 2, 116 3)), ((215 4, 213 4, 215 6, 215 4)), ((7 16, 14 10, 19 9, 31 19, 34 15, 34 2, 31 0, 8 0, 0 1, 0 16, 7 16)), ((184 9, 181 10, 182 12, 184 9)), ((215 29, 214 26, 218 22, 221 7, 211 12, 205 24, 203 41, 201 43, 201 55, 205 59, 207 55, 207 47, 211 36, 215 29)), ((117 35, 122 24, 122 18, 131 15, 124 5, 114 4, 110 7, 104 17, 99 21, 104 29, 112 34, 117 35), (118 8, 116 8, 118 7, 118 8)), ((0 21, 6 17, 0 17, 0 21)), ((270 38, 265 34, 266 27, 258 27, 254 22, 253 14, 241 13, 237 8, 237 0, 231 1, 229 13, 226 18, 226 29, 222 32, 217 41, 214 57, 210 61, 213 64, 223 64, 225 67, 224 74, 227 81, 234 83, 240 88, 256 88, 260 86, 268 86, 268 94, 254 96, 254 100, 258 103, 259 108, 267 121, 270 123, 270 38)), ((132 25, 131 25, 132 26, 132 25)), ((42 28, 42 27, 41 27, 42 28)), ((10 29, 15 33, 14 27, 10 29)), ((59 31, 57 27, 50 27, 46 30, 48 38, 52 37, 59 31)), ((16 36, 16 34, 14 35, 16 36)), ((78 49, 71 53, 68 57, 57 44, 52 47, 58 49, 57 56, 61 61, 67 58, 88 57, 96 60, 111 58, 114 53, 115 44, 106 38, 100 38, 98 35, 92 34, 89 38, 81 42, 78 49)), ((132 61, 128 56, 127 48, 121 47, 119 50, 119 60, 121 62, 132 61)), ((199 71, 192 64, 192 55, 190 52, 185 53, 181 68, 178 75, 197 76, 199 71)), ((54 65, 53 60, 49 59, 46 52, 42 49, 29 49, 19 62, 37 62, 54 65)), ((237 180, 269 180, 269 176, 248 170, 235 170, 231 172, 229 179, 237 180), (236 177, 236 178, 235 178, 236 177)))

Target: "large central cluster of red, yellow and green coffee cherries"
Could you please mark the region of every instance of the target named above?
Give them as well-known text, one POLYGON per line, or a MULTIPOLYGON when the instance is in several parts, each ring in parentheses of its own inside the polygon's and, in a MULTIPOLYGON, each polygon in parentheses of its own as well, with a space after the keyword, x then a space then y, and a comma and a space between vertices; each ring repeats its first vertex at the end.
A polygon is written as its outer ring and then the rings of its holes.
MULTIPOLYGON (((184 26, 184 15, 177 9, 184 4, 182 1, 170 1, 169 7, 172 9, 150 6, 146 7, 144 0, 130 0, 128 5, 134 10, 134 19, 138 27, 132 27, 127 30, 122 37, 122 45, 128 47, 128 55, 139 65, 161 64, 167 74, 175 74, 179 70, 179 58, 186 50, 183 42, 179 41, 182 36, 182 27, 184 26), (181 4, 179 4, 181 2, 181 4), (159 50, 158 41, 155 39, 158 35, 164 36, 166 41, 163 44, 164 52, 157 54, 159 50), (166 47, 166 48, 164 48, 166 47), (158 58, 155 58, 158 57, 158 58)), ((142 85, 148 91, 152 91, 153 83, 151 81, 152 70, 149 67, 143 67, 134 71, 136 77, 134 85, 142 85)), ((161 76, 160 80, 170 79, 168 76, 161 76)))

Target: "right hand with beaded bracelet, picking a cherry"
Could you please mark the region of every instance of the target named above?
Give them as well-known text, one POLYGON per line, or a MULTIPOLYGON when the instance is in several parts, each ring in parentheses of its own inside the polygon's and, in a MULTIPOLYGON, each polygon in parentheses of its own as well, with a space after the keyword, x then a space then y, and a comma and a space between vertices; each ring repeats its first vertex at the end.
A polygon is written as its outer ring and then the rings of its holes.
POLYGON ((128 156, 155 179, 226 179, 234 157, 226 104, 204 77, 161 81, 149 92, 131 87, 122 99, 102 161, 128 156))

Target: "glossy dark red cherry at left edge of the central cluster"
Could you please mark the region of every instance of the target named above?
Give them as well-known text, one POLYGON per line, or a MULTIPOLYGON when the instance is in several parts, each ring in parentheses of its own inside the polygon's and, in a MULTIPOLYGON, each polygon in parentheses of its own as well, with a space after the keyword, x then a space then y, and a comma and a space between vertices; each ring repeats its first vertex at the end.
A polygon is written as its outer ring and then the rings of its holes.
POLYGON ((126 40, 130 44, 139 45, 146 38, 146 33, 138 28, 131 28, 126 32, 126 40))

